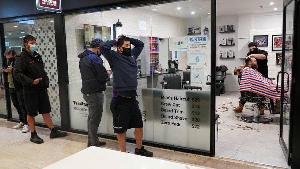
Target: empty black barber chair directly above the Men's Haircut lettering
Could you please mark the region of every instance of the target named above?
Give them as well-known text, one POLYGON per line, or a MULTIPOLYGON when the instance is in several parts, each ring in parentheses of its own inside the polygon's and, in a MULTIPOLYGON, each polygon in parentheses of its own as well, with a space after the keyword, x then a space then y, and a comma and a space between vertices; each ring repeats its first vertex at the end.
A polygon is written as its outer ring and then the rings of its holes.
POLYGON ((162 89, 182 89, 181 75, 176 74, 175 68, 169 68, 168 74, 164 74, 164 81, 160 82, 162 89))

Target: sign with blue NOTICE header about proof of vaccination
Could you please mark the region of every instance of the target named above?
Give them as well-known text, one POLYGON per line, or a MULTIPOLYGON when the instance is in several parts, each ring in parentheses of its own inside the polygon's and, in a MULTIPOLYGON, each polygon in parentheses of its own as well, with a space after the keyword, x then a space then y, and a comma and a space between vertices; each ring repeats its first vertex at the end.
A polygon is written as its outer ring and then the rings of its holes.
POLYGON ((199 51, 206 50, 206 36, 194 36, 188 38, 188 50, 189 51, 199 51))

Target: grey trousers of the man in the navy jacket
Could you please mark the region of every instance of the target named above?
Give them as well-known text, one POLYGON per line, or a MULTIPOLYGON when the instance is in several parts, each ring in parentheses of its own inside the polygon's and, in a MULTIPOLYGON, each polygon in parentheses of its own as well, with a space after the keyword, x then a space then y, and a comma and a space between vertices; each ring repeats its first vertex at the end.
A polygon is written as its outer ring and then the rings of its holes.
POLYGON ((99 146, 98 127, 103 112, 103 92, 83 94, 83 99, 88 103, 88 146, 99 146))

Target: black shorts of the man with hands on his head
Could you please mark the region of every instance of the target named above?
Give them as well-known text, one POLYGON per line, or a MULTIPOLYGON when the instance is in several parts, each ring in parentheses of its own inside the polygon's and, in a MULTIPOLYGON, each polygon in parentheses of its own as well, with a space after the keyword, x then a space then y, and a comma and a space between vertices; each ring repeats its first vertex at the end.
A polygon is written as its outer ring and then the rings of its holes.
POLYGON ((142 128, 142 113, 135 98, 113 97, 110 103, 113 112, 114 133, 125 133, 130 128, 142 128))

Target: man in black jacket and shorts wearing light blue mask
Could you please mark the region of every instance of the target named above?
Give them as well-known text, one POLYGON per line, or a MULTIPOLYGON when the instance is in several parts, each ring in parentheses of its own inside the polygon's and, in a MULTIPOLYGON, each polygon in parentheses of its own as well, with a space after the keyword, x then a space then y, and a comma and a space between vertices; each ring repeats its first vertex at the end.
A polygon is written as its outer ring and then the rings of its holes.
POLYGON ((44 122, 51 130, 50 138, 64 137, 66 132, 58 131, 53 125, 50 112, 51 106, 47 88, 49 78, 44 68, 41 55, 36 52, 36 38, 26 35, 23 38, 25 48, 16 58, 14 65, 14 77, 23 85, 24 102, 27 111, 27 121, 31 130, 30 141, 43 143, 34 129, 34 117, 42 114, 44 122))

